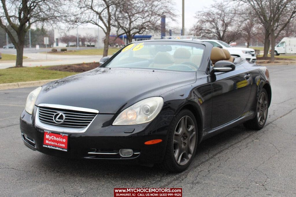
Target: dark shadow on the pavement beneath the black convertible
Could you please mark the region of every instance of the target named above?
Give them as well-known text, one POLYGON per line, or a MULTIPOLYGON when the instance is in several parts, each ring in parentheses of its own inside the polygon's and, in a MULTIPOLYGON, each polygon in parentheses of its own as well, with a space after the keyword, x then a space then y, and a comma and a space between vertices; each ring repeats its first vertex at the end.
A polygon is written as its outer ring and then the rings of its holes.
MULTIPOLYGON (((195 167, 199 166, 199 164, 202 165, 209 157, 254 132, 256 131, 248 130, 244 128, 243 125, 239 125, 202 141, 202 143, 197 147, 197 154, 195 155, 192 163, 194 163, 195 167)), ((42 167, 45 171, 54 171, 56 173, 62 173, 63 175, 69 176, 79 175, 80 177, 93 177, 112 174, 112 176, 122 177, 123 179, 145 179, 147 176, 157 177, 164 173, 170 174, 158 169, 157 167, 146 167, 134 164, 133 161, 127 163, 118 160, 65 159, 42 153, 38 153, 37 155, 34 154, 34 156, 37 156, 37 158, 27 160, 28 162, 34 161, 33 166, 42 167)))

